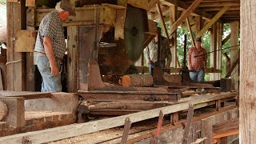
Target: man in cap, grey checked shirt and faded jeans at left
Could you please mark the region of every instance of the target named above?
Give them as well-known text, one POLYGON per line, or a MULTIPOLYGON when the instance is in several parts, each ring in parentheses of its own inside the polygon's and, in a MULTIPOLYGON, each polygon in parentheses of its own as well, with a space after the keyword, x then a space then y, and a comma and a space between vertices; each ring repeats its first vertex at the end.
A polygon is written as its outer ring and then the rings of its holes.
POLYGON ((76 15, 73 6, 69 0, 62 0, 40 22, 34 51, 37 53, 36 62, 42 75, 41 91, 62 91, 59 68, 66 51, 62 22, 70 15, 76 15))

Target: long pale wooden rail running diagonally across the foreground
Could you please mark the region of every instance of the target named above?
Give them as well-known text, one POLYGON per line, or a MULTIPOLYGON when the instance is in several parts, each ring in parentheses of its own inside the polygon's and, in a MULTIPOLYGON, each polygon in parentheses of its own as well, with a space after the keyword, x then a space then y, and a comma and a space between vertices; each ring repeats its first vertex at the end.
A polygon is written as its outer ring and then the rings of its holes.
POLYGON ((134 114, 127 114, 114 118, 107 118, 93 122, 74 124, 69 126, 60 126, 47 130, 39 130, 25 134, 15 134, 6 137, 1 137, 0 142, 17 143, 22 142, 24 137, 30 138, 32 143, 53 142, 59 139, 71 138, 82 134, 90 134, 99 130, 106 130, 117 126, 123 126, 126 118, 130 118, 130 122, 140 122, 145 119, 158 117, 160 110, 163 114, 171 114, 181 110, 187 110, 190 103, 196 105, 198 103, 215 101, 223 98, 230 98, 237 95, 236 93, 229 94, 206 94, 200 95, 196 100, 178 103, 172 106, 166 106, 154 110, 146 110, 134 114))

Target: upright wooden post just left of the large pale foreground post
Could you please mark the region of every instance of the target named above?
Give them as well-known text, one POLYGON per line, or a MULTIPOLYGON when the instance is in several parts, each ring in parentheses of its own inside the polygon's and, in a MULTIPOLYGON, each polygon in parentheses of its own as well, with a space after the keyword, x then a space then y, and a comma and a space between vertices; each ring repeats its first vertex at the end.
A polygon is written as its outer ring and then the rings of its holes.
MULTIPOLYGON (((231 36, 230 36, 230 46, 235 46, 233 48, 230 48, 230 63, 231 66, 234 65, 234 62, 238 58, 239 49, 238 49, 238 38, 239 38, 239 22, 231 22, 231 36)), ((254 62, 254 61, 251 61, 254 62)), ((238 90, 238 76, 239 76, 239 66, 236 66, 233 70, 233 73, 231 73, 231 79, 232 79, 232 89, 238 90)))

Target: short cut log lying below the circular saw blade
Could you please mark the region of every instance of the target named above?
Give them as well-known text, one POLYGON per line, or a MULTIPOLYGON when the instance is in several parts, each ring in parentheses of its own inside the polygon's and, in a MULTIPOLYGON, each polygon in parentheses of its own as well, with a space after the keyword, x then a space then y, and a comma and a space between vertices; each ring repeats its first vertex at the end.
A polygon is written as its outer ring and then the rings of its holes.
POLYGON ((150 74, 128 74, 122 76, 122 86, 152 86, 153 77, 150 74))

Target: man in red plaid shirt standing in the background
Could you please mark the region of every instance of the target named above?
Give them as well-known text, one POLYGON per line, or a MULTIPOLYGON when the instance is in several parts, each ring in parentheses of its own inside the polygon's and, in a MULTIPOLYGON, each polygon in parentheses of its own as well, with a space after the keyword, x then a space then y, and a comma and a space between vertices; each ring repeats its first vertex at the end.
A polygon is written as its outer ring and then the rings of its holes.
POLYGON ((207 64, 206 50, 201 47, 202 39, 197 38, 195 46, 188 51, 188 68, 190 70, 190 78, 195 82, 203 82, 207 64))

